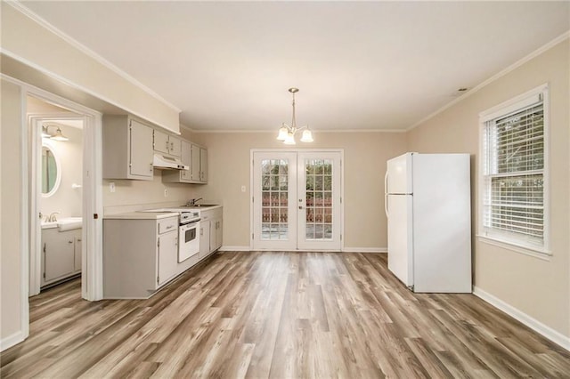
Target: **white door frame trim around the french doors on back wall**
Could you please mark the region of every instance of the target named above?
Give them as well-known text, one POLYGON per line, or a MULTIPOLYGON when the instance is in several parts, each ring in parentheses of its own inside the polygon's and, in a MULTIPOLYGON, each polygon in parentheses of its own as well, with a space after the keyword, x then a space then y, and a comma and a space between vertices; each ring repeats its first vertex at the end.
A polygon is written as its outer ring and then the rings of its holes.
MULTIPOLYGON (((255 220, 254 220, 254 175, 255 175, 255 165, 254 165, 254 154, 255 153, 340 153, 340 218, 339 218, 339 228, 340 228, 340 250, 327 250, 319 249, 318 251, 332 251, 332 252, 342 252, 345 250, 345 174, 344 165, 345 160, 345 149, 250 149, 249 150, 249 250, 253 250, 253 234, 255 230, 255 220)), ((296 236, 297 238, 297 236, 296 236)), ((290 250, 290 251, 300 251, 300 250, 290 250)))

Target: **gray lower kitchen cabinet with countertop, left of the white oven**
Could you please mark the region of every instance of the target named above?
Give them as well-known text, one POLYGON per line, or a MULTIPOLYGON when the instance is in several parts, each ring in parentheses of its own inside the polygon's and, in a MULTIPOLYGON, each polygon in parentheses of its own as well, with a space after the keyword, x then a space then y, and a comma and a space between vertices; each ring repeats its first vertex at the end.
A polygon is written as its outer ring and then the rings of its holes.
POLYGON ((103 297, 146 299, 181 271, 178 214, 132 213, 103 220, 103 297))

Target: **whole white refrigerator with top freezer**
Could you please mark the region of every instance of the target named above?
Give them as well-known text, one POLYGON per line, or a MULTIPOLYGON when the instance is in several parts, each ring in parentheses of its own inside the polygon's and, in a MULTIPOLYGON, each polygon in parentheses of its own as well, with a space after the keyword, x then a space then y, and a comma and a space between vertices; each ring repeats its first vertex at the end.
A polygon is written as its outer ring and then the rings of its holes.
POLYGON ((387 161, 388 269, 414 292, 471 293, 468 154, 387 161))

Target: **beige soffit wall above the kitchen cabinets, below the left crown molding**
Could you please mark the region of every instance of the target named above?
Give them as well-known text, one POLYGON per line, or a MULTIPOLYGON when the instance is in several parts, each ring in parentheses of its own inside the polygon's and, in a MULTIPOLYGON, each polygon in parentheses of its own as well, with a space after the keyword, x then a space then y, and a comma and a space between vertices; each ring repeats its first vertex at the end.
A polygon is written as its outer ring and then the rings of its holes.
POLYGON ((133 85, 10 4, 0 2, 0 7, 4 53, 16 60, 33 63, 41 71, 153 124, 179 132, 177 109, 133 85))

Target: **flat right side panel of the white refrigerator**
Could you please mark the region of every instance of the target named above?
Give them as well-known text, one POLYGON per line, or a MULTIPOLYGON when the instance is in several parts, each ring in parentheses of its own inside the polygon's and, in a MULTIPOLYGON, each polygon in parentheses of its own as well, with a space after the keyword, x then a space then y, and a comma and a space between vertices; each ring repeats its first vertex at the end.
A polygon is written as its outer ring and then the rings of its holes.
POLYGON ((468 154, 414 156, 414 291, 471 292, 468 154))

